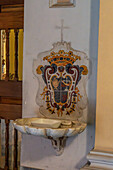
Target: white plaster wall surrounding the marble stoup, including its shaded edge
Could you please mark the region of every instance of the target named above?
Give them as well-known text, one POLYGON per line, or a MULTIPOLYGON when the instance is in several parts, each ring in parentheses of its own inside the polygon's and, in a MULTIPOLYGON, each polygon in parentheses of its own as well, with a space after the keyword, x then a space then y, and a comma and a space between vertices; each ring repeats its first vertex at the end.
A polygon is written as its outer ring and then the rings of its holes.
POLYGON ((35 97, 38 82, 32 73, 33 59, 37 54, 52 48, 60 41, 64 19, 69 30, 64 40, 72 47, 87 53, 92 60, 92 75, 88 83, 90 125, 80 135, 67 140, 63 155, 55 156, 51 141, 23 135, 21 165, 45 170, 77 170, 86 162, 85 156, 94 146, 94 117, 96 101, 96 62, 98 49, 99 0, 76 0, 75 8, 49 8, 49 0, 25 0, 23 117, 37 117, 35 97))

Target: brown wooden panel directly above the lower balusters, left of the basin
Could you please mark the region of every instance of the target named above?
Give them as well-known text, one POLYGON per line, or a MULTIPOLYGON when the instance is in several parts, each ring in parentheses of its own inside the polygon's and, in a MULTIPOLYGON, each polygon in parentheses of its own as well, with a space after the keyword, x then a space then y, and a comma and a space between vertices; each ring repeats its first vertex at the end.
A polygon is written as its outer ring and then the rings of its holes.
POLYGON ((22 105, 0 104, 0 118, 15 120, 22 117, 22 105))

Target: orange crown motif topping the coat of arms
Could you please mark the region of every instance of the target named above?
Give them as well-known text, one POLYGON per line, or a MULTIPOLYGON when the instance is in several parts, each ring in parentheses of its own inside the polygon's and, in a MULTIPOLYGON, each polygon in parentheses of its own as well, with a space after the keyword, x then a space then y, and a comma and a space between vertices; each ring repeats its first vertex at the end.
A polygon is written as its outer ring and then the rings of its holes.
POLYGON ((51 65, 65 66, 67 64, 73 64, 76 60, 81 60, 81 57, 73 54, 72 51, 65 52, 64 50, 59 50, 58 52, 52 51, 43 60, 47 60, 51 65))

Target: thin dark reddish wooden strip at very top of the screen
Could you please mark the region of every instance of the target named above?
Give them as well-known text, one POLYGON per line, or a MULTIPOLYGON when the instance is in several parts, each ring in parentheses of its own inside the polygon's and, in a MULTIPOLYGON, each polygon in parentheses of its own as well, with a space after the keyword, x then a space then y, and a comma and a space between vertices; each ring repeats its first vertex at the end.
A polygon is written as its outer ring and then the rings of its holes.
POLYGON ((24 4, 24 0, 0 0, 0 5, 24 4))

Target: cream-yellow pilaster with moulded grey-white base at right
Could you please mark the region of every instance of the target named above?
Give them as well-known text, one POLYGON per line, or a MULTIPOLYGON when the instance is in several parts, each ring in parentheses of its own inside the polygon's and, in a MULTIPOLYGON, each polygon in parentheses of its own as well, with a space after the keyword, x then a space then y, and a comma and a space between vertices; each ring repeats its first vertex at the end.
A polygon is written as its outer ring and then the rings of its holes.
POLYGON ((113 169, 113 1, 100 0, 95 148, 82 170, 113 169))

